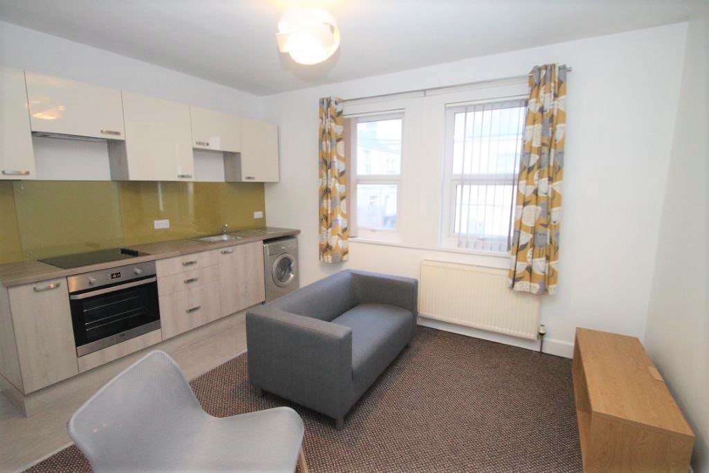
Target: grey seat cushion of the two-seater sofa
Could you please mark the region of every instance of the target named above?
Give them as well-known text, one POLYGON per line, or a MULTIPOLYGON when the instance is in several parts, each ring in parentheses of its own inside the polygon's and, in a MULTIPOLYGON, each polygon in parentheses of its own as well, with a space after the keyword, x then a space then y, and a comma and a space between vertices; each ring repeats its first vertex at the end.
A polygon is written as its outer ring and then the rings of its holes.
POLYGON ((359 304, 332 323, 352 329, 356 398, 367 390, 411 338, 413 313, 389 304, 359 304))

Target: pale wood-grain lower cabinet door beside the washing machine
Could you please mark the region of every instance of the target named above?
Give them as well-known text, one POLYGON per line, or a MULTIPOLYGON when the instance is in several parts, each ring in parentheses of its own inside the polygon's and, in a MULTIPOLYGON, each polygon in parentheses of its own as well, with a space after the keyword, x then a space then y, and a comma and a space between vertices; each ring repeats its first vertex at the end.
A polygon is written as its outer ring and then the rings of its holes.
POLYGON ((263 243, 245 243, 219 250, 222 316, 266 300, 263 243))

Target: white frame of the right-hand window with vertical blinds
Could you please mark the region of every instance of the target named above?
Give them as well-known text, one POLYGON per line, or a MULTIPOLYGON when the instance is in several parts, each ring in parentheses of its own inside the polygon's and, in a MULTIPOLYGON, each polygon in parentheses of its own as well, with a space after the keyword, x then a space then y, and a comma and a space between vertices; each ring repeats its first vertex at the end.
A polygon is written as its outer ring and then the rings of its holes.
MULTIPOLYGON (((509 89, 506 89, 509 91, 509 89)), ((455 232, 455 201, 457 194, 458 185, 480 185, 480 184, 490 184, 489 178, 484 176, 489 176, 489 174, 453 174, 452 172, 452 162, 453 162, 453 135, 454 135, 454 121, 455 113, 467 106, 476 104, 489 104, 491 102, 498 101, 510 101, 528 99, 528 93, 525 89, 520 88, 520 94, 507 95, 505 96, 495 96, 493 90, 489 91, 471 91, 467 94, 456 94, 454 101, 450 101, 442 104, 442 118, 443 123, 443 154, 442 154, 442 187, 440 193, 441 207, 440 207, 440 247, 442 248, 458 248, 459 235, 455 232), (464 100, 468 99, 468 100, 464 100)), ((522 125, 524 126, 524 125, 522 125)), ((522 128, 523 131, 523 128, 522 128)), ((520 148, 521 152, 521 148, 520 148)), ((503 174, 506 176, 503 180, 497 180, 496 184, 501 185, 511 185, 513 186, 512 204, 511 207, 514 210, 515 197, 516 197, 516 187, 517 187, 517 173, 513 174, 503 174)), ((500 179, 500 175, 497 175, 497 179, 500 179)), ((513 217, 512 217, 513 218, 513 217)), ((511 222, 510 222, 511 224, 511 222)), ((511 226, 511 225, 510 225, 511 226)), ((487 238, 482 240, 481 247, 470 248, 470 250, 475 250, 479 252, 491 252, 491 253, 504 253, 509 254, 510 250, 498 250, 495 248, 500 243, 508 243, 511 241, 512 235, 510 230, 510 235, 506 238, 487 238)), ((467 248, 463 248, 467 249, 467 248)))

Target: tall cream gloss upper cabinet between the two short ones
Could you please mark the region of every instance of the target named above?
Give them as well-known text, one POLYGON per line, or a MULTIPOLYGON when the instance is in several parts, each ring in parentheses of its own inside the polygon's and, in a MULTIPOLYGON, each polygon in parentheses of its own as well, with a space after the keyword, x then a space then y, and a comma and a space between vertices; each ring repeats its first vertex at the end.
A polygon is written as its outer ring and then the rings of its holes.
POLYGON ((108 142, 111 178, 193 181, 189 105, 123 92, 125 143, 108 142))

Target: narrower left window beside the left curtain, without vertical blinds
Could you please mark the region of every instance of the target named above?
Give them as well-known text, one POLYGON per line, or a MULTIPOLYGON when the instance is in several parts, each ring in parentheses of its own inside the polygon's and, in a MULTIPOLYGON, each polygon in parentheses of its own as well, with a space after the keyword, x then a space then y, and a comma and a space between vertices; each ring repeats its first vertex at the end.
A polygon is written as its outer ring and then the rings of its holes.
POLYGON ((403 113, 359 116, 348 123, 354 228, 364 235, 397 232, 403 113))

